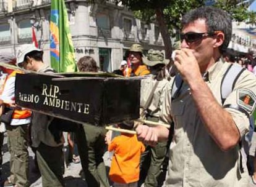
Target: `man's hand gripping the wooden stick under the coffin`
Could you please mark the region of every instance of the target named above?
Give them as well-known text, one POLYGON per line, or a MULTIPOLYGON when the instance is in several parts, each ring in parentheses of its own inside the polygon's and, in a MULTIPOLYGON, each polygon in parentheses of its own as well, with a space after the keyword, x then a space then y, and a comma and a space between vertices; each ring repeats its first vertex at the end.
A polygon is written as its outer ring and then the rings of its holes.
POLYGON ((158 135, 154 127, 148 127, 147 125, 138 125, 136 127, 137 138, 143 143, 155 146, 158 142, 158 135))

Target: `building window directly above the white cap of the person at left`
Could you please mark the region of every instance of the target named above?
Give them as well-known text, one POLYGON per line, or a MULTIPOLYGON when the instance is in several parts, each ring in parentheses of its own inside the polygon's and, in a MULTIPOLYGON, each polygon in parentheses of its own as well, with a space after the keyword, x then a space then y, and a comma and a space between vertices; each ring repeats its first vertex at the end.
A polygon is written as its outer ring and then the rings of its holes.
POLYGON ((30 20, 22 20, 19 23, 19 42, 32 41, 32 26, 30 20))

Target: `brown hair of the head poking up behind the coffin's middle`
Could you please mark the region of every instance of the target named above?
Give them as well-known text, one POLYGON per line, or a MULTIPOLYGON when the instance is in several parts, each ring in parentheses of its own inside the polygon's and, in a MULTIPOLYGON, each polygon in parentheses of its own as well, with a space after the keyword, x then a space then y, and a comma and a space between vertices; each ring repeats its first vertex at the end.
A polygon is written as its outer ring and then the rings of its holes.
POLYGON ((97 72, 98 67, 95 60, 90 56, 84 56, 77 62, 77 68, 79 71, 97 72))

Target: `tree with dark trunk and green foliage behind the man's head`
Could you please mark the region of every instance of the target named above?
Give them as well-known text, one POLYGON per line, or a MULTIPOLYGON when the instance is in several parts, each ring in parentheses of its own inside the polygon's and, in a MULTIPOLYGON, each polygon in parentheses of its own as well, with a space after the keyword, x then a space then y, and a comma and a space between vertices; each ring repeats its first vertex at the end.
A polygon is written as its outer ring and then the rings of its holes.
MULTIPOLYGON (((90 0, 97 1, 97 0, 90 0)), ((98 0, 103 1, 103 0, 98 0)), ((166 57, 171 54, 171 40, 168 39, 174 31, 181 30, 181 18, 191 9, 205 5, 205 0, 113 0, 116 4, 122 5, 134 11, 136 18, 143 22, 158 22, 160 32, 163 36, 166 57), (164 24, 163 24, 164 23, 164 24), (166 36, 166 34, 168 36, 166 36)), ((255 23, 255 12, 249 11, 248 5, 241 3, 241 0, 216 0, 215 7, 229 12, 237 22, 255 23)))

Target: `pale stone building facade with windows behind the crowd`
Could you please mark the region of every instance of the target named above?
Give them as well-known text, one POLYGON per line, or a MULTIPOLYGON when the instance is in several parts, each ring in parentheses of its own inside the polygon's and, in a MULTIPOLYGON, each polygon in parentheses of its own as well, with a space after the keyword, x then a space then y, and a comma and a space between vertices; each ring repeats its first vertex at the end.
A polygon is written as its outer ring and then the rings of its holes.
MULTIPOLYGON (((145 24, 131 11, 113 1, 90 4, 87 0, 66 1, 70 32, 77 60, 95 58, 100 70, 119 67, 127 49, 136 43, 163 50, 163 39, 155 23, 145 24)), ((23 44, 32 42, 32 26, 44 62, 49 64, 50 0, 0 0, 0 52, 17 55, 23 44)))

